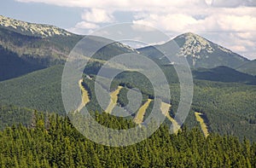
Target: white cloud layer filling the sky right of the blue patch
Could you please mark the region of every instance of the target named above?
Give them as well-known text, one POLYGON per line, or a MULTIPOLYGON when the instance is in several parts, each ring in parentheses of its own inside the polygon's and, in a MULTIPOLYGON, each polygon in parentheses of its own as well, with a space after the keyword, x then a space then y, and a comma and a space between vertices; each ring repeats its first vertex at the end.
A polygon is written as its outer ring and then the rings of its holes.
POLYGON ((195 32, 229 49, 256 59, 255 0, 17 0, 84 8, 81 21, 69 29, 89 32, 109 23, 131 21, 169 34, 195 32), (131 20, 118 14, 126 12, 131 20), (119 19, 118 19, 119 18, 119 19))

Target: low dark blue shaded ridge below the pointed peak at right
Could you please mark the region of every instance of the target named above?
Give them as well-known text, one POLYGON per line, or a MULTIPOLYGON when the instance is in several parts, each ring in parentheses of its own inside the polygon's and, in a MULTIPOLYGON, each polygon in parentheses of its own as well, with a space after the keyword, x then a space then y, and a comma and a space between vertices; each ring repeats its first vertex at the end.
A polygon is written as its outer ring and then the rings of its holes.
POLYGON ((225 83, 256 84, 256 78, 254 76, 224 66, 214 67, 212 69, 198 68, 196 71, 193 71, 193 76, 196 79, 225 83))

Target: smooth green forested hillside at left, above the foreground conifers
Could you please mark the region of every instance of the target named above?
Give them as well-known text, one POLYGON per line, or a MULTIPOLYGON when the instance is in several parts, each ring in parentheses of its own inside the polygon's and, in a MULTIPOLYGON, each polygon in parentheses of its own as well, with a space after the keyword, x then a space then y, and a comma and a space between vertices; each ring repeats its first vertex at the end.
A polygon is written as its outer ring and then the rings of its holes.
POLYGON ((49 67, 1 82, 1 104, 64 113, 61 99, 62 70, 61 66, 49 67))

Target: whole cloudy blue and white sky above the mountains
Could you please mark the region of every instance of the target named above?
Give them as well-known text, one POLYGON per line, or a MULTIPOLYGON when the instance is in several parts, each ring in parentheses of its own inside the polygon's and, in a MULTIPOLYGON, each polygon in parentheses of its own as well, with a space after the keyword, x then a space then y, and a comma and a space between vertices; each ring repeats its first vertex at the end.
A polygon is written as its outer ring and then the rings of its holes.
POLYGON ((132 22, 170 38, 194 32, 256 59, 256 0, 2 0, 0 14, 88 34, 132 22))

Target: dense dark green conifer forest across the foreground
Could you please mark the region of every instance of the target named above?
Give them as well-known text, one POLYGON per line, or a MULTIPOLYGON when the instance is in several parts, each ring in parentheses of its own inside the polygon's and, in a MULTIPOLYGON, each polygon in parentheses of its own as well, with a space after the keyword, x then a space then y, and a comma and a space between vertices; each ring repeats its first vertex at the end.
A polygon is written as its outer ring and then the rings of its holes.
MULTIPOLYGON (((130 121, 96 113, 111 127, 130 121), (114 122, 113 122, 114 121, 114 122), (114 123, 114 125, 113 125, 114 123)), ((147 140, 128 147, 107 147, 82 136, 67 117, 34 113, 32 125, 0 131, 0 167, 255 167, 256 143, 235 136, 183 127, 177 135, 162 125, 147 140)))

